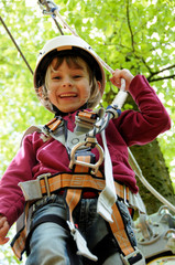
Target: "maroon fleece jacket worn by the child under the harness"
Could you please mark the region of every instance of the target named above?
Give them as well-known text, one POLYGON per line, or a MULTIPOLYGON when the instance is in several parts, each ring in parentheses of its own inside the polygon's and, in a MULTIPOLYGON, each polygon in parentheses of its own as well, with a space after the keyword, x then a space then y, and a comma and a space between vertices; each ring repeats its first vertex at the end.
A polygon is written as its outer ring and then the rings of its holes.
MULTIPOLYGON (((106 129, 108 149, 116 180, 138 192, 136 180, 128 162, 128 147, 152 141, 158 134, 171 128, 171 119, 164 106, 144 76, 136 75, 130 84, 130 94, 140 112, 125 110, 112 119, 106 129)), ((64 116, 69 130, 74 130, 76 113, 64 116)), ((97 135, 102 146, 101 136, 97 135)), ((92 150, 98 159, 98 151, 92 150)), ((35 179, 46 172, 70 172, 66 148, 51 138, 43 141, 40 132, 25 136, 22 147, 13 158, 0 181, 0 213, 12 225, 23 212, 24 198, 18 183, 35 179)), ((103 170, 101 165, 100 170, 103 170)))

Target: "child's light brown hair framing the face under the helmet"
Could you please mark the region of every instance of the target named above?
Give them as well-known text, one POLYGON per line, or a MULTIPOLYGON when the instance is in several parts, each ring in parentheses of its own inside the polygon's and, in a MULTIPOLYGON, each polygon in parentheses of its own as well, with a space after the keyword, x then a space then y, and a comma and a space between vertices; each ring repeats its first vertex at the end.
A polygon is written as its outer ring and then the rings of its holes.
POLYGON ((53 66, 52 63, 51 63, 48 65, 47 70, 46 70, 45 84, 41 87, 41 91, 40 91, 40 93, 41 93, 40 96, 42 95, 41 102, 43 102, 44 105, 47 105, 48 108, 52 108, 54 110, 53 105, 48 99, 48 93, 47 93, 48 83, 50 83, 50 80, 51 80, 51 72, 56 71, 57 67, 62 65, 63 61, 66 60, 66 63, 70 67, 73 65, 76 65, 78 67, 83 67, 83 63, 85 63, 85 65, 87 67, 87 72, 89 73, 89 85, 90 85, 90 97, 87 102, 87 107, 88 108, 95 108, 99 104, 102 95, 101 95, 101 92, 99 91, 99 85, 98 85, 98 81, 95 76, 95 73, 89 67, 88 63, 86 63, 86 61, 83 60, 80 56, 76 56, 76 55, 57 56, 56 59, 57 59, 57 61, 56 61, 55 65, 53 66))

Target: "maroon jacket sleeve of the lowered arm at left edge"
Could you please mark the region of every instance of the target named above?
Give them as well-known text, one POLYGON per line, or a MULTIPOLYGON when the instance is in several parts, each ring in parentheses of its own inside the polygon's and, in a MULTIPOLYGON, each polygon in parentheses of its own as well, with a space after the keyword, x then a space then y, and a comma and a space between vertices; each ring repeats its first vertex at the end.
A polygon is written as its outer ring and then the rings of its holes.
POLYGON ((24 209, 24 198, 20 187, 21 181, 32 179, 32 168, 36 165, 32 135, 26 136, 22 147, 11 161, 0 181, 0 213, 6 215, 12 225, 24 209))

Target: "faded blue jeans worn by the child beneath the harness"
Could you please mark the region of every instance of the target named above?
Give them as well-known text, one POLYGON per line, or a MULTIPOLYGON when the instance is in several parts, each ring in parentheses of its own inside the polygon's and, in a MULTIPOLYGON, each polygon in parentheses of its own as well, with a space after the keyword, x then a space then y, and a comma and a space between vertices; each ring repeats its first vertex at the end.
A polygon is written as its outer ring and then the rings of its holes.
MULTIPOLYGON (((44 203, 42 201, 41 204, 37 204, 39 208, 33 214, 33 224, 46 214, 56 214, 67 220, 66 205, 62 195, 52 195, 52 199, 47 198, 44 203)), ((135 245, 128 209, 124 203, 120 202, 120 204, 128 232, 131 234, 131 241, 135 245)), ((86 239, 89 250, 94 250, 98 242, 109 234, 106 221, 97 213, 97 198, 81 199, 74 211, 74 222, 78 224, 78 229, 86 239)), ((53 222, 40 224, 34 230, 30 240, 30 251, 25 265, 94 264, 76 255, 75 242, 69 231, 53 222)), ((116 264, 122 265, 118 248, 101 265, 116 264)))

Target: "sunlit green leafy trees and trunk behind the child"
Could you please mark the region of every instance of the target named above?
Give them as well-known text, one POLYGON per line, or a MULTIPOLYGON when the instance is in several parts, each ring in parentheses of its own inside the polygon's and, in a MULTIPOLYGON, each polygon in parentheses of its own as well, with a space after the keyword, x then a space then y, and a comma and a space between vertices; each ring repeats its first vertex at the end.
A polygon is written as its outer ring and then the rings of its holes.
MULTIPOLYGON (((131 148, 145 178, 174 203, 175 189, 175 2, 174 0, 55 0, 61 14, 113 70, 143 74, 172 118, 172 128, 144 147, 131 148)), ((59 34, 37 0, 0 0, 0 15, 32 70, 43 44, 59 34)), ((65 34, 69 34, 64 30, 65 34)), ((118 89, 109 82, 102 105, 118 89)), ((136 109, 129 97, 123 109, 136 109)), ((19 149, 23 131, 45 124, 52 114, 39 103, 32 74, 0 22, 0 176, 19 149)), ((140 183, 147 212, 161 203, 140 183), (152 203, 153 202, 153 203, 152 203)), ((14 234, 14 230, 10 236, 14 234)), ((0 264, 18 264, 9 244, 0 247, 0 264)))

